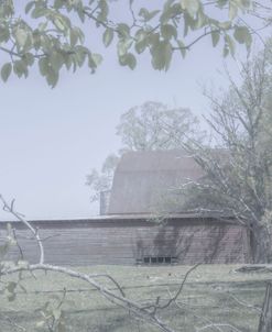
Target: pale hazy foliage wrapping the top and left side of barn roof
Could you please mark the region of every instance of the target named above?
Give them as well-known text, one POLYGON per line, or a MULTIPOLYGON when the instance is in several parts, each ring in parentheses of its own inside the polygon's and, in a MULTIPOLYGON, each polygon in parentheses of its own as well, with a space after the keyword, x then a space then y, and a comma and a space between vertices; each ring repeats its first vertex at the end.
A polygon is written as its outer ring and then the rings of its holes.
POLYGON ((197 118, 188 109, 171 109, 163 103, 149 101, 121 115, 117 135, 123 144, 121 150, 106 158, 100 173, 93 169, 87 176, 91 201, 99 198, 100 191, 111 188, 116 166, 123 153, 181 148, 188 137, 194 136, 199 141, 203 133, 197 118))

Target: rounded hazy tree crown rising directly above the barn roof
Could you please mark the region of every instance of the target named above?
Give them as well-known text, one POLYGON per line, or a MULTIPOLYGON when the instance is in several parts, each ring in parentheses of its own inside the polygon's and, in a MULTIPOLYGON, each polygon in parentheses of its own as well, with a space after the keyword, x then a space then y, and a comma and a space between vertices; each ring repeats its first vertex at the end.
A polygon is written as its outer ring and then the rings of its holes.
POLYGON ((123 113, 117 126, 123 151, 179 148, 197 132, 198 120, 188 109, 170 109, 149 101, 123 113))

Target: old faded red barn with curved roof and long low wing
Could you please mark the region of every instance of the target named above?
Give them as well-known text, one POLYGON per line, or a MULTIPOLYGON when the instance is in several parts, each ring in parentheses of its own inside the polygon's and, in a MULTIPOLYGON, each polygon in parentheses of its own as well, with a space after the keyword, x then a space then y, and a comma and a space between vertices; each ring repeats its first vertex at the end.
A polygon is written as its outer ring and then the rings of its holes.
MULTIPOLYGON (((176 188, 202 171, 181 151, 123 155, 102 215, 87 220, 40 220, 32 224, 44 239, 47 263, 195 264, 250 261, 248 230, 232 218, 186 213, 176 188), (163 215, 163 221, 161 217, 163 215)), ((24 259, 37 259, 36 243, 24 225, 12 222, 24 259)), ((1 241, 6 223, 0 224, 1 241)), ((13 255, 20 256, 18 248, 13 255)))

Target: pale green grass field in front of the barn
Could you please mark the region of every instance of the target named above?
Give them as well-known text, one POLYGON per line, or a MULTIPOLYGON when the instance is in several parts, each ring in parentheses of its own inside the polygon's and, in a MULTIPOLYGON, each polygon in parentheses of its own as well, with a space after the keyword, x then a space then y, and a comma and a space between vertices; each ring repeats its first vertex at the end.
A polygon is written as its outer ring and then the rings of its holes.
MULTIPOLYGON (((255 332, 265 281, 272 279, 269 273, 235 273, 233 265, 203 265, 194 270, 178 298, 178 306, 171 306, 161 317, 175 331, 197 331, 209 321, 232 324, 243 332, 255 332)), ((123 287, 126 295, 142 303, 161 301, 177 290, 186 270, 186 266, 131 267, 131 266, 95 266, 80 268, 88 273, 108 273, 123 287)), ((150 324, 139 322, 126 310, 117 308, 104 299, 96 290, 84 281, 63 277, 54 273, 30 274, 24 276, 23 288, 17 290, 17 298, 10 302, 6 294, 0 294, 0 332, 37 331, 35 324, 41 320, 40 309, 46 301, 57 303, 56 296, 63 295, 66 288, 66 300, 63 305, 66 331, 69 332, 153 332, 157 331, 150 324), (78 291, 78 289, 80 291, 78 291), (12 322, 12 323, 11 323, 12 322), (14 325, 13 323, 19 327, 14 325)), ((112 284, 101 279, 106 286, 112 284)), ((48 331, 40 328, 39 331, 48 331)), ((216 331, 207 329, 205 331, 216 331)), ((218 330, 217 330, 218 331, 218 330)), ((224 328, 222 331, 232 331, 224 328)))

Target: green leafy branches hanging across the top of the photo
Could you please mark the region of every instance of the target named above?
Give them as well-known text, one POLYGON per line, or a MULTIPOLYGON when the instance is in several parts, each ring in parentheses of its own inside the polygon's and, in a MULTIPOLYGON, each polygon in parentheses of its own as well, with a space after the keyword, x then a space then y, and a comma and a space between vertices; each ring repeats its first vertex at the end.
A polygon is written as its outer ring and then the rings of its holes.
POLYGON ((94 73, 102 56, 86 31, 98 33, 105 47, 113 44, 119 64, 131 69, 140 54, 149 53, 154 69, 167 70, 174 53, 186 56, 204 37, 214 47, 222 46, 224 56, 233 55, 236 44, 251 45, 255 31, 247 24, 247 15, 254 14, 266 25, 271 16, 266 5, 251 0, 118 2, 0 0, 2 79, 12 71, 26 77, 34 64, 52 87, 62 68, 75 71, 86 63, 94 73), (123 18, 117 19, 120 11, 123 18))

